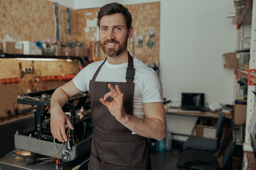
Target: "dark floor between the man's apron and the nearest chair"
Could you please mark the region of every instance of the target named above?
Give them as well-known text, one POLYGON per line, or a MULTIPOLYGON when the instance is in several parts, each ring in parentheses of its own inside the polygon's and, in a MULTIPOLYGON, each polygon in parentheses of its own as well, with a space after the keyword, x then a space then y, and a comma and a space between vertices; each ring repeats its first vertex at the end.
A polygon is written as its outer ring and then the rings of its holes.
POLYGON ((181 145, 174 144, 169 151, 150 154, 152 170, 176 170, 180 149, 181 145))

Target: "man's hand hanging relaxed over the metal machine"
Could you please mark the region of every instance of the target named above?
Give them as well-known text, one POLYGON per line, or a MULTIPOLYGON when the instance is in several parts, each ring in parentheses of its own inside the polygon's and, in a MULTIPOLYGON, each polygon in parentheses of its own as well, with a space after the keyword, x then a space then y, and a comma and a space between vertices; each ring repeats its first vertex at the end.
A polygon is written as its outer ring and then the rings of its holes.
POLYGON ((63 113, 62 108, 59 105, 55 105, 50 109, 50 132, 53 137, 60 142, 67 141, 67 135, 65 132, 65 123, 68 127, 74 130, 69 118, 63 113))

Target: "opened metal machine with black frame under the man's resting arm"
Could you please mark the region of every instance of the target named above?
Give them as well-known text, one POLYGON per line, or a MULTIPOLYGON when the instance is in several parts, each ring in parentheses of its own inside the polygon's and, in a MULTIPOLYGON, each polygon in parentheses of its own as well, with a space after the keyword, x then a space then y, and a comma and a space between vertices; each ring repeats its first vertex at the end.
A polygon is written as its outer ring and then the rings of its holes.
POLYGON ((89 94, 81 93, 70 98, 63 106, 63 112, 70 118, 74 130, 65 126, 68 141, 55 140, 50 132, 50 97, 55 89, 18 95, 18 103, 36 106, 35 128, 16 132, 16 149, 43 154, 48 157, 70 162, 90 150, 92 140, 92 121, 90 117, 89 94))

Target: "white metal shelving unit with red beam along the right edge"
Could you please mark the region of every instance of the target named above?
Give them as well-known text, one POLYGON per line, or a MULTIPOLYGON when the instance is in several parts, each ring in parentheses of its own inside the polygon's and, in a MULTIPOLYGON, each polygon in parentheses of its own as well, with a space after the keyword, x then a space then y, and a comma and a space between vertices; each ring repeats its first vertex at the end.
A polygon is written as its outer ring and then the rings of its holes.
MULTIPOLYGON (((253 113, 256 111, 256 0, 246 0, 246 1, 234 1, 236 3, 245 3, 242 11, 240 11, 240 16, 237 20, 237 30, 238 30, 238 39, 237 39, 237 48, 242 48, 241 41, 241 30, 242 24, 249 23, 251 24, 251 34, 250 34, 250 62, 249 70, 245 71, 242 69, 235 69, 235 74, 238 74, 247 79, 247 111, 246 111, 246 122, 245 122, 245 142, 242 143, 244 158, 243 158, 243 167, 242 169, 255 169, 255 155, 252 152, 252 145, 250 139, 250 132, 248 126, 250 125, 250 120, 253 113), (244 17, 246 21, 244 21, 244 17), (251 18, 250 18, 251 17, 251 18), (247 158, 247 155, 250 156, 250 161, 247 158)), ((240 4, 241 5, 241 4, 240 4)), ((236 8, 236 14, 238 15, 238 8, 236 8)), ((249 50, 247 52, 249 52, 249 50)), ((240 50, 242 52, 243 50, 240 50)))

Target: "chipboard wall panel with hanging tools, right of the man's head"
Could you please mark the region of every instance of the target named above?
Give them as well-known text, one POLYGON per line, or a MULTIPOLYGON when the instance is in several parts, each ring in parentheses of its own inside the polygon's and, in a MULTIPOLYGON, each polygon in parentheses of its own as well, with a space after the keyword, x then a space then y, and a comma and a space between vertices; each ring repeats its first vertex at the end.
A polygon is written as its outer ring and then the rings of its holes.
POLYGON ((144 63, 156 63, 159 61, 159 28, 160 28, 160 2, 149 4, 134 4, 127 6, 132 14, 134 36, 129 42, 129 50, 132 52, 132 41, 134 41, 134 56, 144 63), (151 40, 155 43, 151 48, 146 45, 149 41, 149 31, 154 30, 151 40), (143 35, 142 47, 138 47, 138 38, 143 35))

